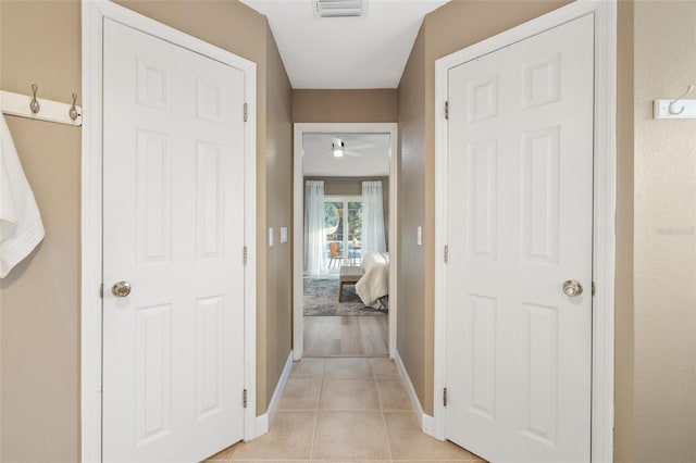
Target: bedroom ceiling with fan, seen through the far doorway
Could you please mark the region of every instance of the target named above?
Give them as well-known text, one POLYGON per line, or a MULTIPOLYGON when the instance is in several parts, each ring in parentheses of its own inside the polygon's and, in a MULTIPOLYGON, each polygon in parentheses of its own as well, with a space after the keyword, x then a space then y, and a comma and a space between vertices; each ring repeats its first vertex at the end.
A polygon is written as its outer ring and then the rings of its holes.
POLYGON ((389 145, 389 134, 304 134, 303 173, 322 177, 388 176, 389 145), (332 155, 335 137, 345 143, 343 158, 332 155))

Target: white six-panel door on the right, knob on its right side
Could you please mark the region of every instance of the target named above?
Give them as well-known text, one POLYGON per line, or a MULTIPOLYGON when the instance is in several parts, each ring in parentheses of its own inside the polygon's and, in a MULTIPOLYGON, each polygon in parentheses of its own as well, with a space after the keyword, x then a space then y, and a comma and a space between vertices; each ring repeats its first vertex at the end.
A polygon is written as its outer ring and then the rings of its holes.
POLYGON ((446 435, 492 462, 589 461, 593 21, 449 71, 446 435))

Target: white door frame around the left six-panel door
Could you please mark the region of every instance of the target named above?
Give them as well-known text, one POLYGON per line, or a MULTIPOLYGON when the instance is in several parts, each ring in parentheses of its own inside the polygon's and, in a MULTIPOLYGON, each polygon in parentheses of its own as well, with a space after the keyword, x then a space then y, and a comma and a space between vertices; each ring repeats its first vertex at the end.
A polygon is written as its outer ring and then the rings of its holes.
MULTIPOLYGON (((102 284, 102 63, 103 20, 109 18, 244 72, 248 121, 245 125, 245 409, 244 438, 256 437, 256 63, 105 0, 82 3, 82 461, 101 461, 101 297, 102 284)), ((240 108, 239 111, 243 111, 240 108)), ((239 250, 243 259, 243 250, 239 250)), ((241 398, 239 398, 241 400, 241 398)))

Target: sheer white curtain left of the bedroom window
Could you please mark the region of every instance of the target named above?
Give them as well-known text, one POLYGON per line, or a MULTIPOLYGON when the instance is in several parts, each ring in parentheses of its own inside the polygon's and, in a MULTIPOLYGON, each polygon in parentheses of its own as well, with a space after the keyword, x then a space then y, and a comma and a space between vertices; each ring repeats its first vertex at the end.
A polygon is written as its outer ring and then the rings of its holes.
POLYGON ((304 274, 312 277, 325 275, 326 234, 324 230, 324 183, 304 183, 304 274))

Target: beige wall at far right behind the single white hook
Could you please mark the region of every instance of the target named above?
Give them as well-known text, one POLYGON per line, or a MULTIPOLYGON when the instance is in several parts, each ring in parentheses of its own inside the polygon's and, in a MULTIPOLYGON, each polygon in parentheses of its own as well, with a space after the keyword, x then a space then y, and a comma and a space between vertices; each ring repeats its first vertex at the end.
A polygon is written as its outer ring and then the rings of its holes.
POLYGON ((696 461, 696 2, 635 2, 635 460, 696 461), (692 93, 689 98, 696 98, 692 93))

